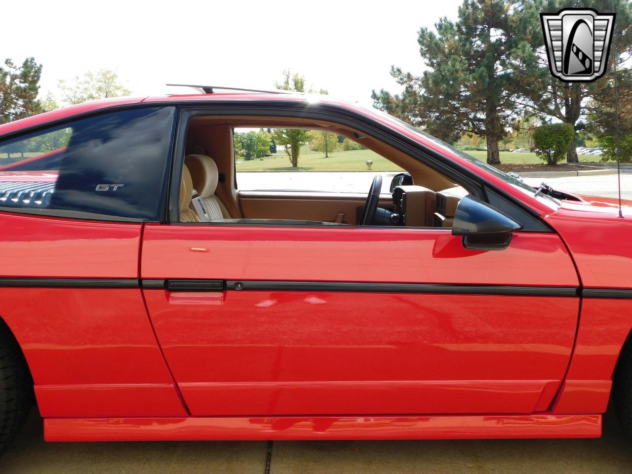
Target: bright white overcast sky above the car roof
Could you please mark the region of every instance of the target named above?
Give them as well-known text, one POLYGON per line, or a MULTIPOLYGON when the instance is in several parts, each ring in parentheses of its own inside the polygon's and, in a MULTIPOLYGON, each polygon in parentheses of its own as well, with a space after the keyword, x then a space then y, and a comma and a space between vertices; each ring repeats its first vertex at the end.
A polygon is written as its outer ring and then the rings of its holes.
POLYGON ((6 1, 0 57, 34 56, 40 95, 59 79, 116 70, 133 95, 183 92, 166 83, 273 88, 284 69, 347 100, 400 88, 391 64, 423 71, 417 32, 461 0, 6 1))

